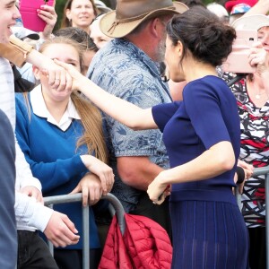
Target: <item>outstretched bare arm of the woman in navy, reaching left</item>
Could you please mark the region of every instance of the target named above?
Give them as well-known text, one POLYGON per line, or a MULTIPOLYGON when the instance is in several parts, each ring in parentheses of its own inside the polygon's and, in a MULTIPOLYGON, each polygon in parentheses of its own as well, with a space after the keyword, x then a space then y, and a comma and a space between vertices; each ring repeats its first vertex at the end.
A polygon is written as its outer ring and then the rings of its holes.
POLYGON ((102 90, 94 82, 80 74, 74 66, 59 62, 56 59, 55 62, 57 65, 64 67, 72 76, 72 89, 82 91, 85 96, 110 117, 114 117, 117 121, 134 130, 157 128, 152 117, 152 108, 139 108, 126 100, 121 100, 102 90))

